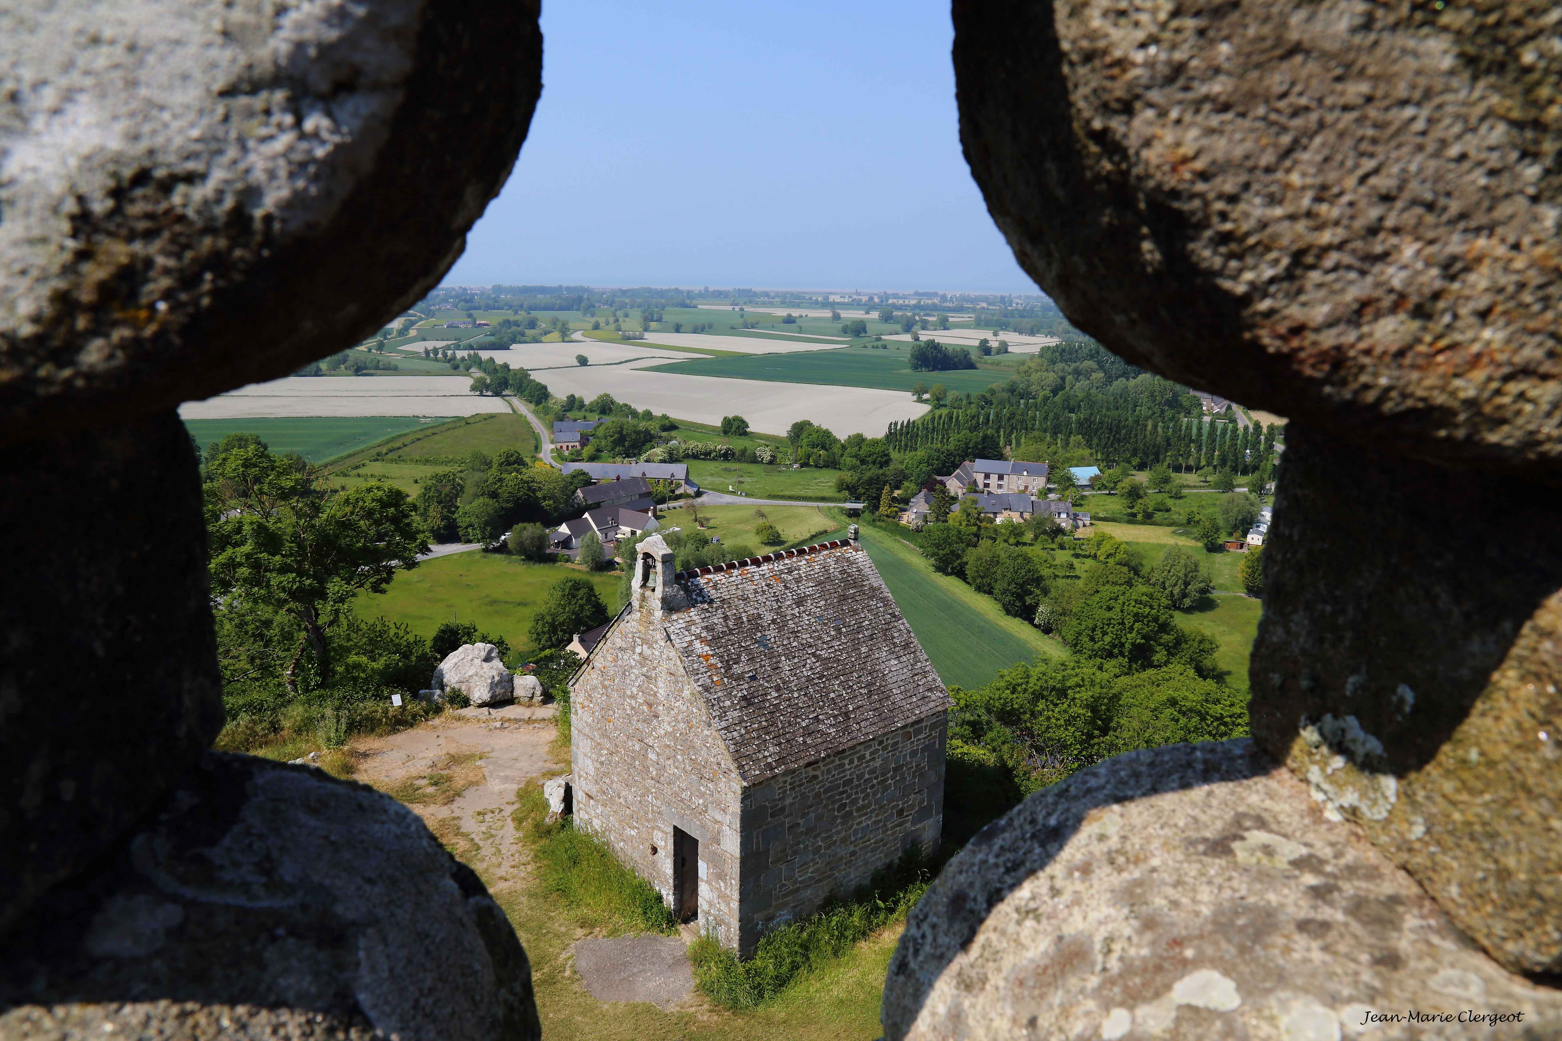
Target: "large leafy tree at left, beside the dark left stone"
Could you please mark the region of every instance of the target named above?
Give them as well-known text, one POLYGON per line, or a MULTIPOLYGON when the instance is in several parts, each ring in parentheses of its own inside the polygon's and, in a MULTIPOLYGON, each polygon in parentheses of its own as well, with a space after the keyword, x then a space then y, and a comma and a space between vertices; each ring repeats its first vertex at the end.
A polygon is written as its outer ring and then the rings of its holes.
POLYGON ((306 652, 330 676, 326 634, 351 615, 358 593, 383 593, 428 552, 406 492, 383 482, 339 492, 312 467, 300 470, 261 445, 214 459, 205 499, 212 595, 283 612, 300 626, 284 671, 292 693, 306 652))

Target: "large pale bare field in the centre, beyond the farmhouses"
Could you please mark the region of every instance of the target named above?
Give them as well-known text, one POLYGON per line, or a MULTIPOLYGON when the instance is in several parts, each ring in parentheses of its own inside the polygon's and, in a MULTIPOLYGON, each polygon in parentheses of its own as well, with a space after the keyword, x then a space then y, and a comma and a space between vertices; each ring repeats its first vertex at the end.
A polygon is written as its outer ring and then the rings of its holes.
POLYGON ((928 410, 928 406, 917 404, 904 390, 764 382, 642 370, 645 365, 659 364, 661 359, 611 367, 576 365, 539 373, 539 379, 548 384, 548 390, 556 396, 575 393, 589 400, 606 392, 636 409, 665 412, 695 423, 717 425, 723 415, 740 415, 761 434, 786 434, 797 420, 812 420, 840 437, 856 432, 881 437, 890 423, 914 420, 928 410))

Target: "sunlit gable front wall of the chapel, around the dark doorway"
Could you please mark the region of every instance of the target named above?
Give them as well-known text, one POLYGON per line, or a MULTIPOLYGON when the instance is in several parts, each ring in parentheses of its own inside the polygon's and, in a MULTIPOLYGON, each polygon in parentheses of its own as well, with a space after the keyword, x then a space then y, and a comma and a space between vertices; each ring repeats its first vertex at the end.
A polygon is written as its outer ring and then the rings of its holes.
POLYGON ((669 905, 673 827, 700 840, 700 929, 734 946, 742 785, 661 613, 642 607, 608 632, 570 696, 575 826, 606 841, 669 905))

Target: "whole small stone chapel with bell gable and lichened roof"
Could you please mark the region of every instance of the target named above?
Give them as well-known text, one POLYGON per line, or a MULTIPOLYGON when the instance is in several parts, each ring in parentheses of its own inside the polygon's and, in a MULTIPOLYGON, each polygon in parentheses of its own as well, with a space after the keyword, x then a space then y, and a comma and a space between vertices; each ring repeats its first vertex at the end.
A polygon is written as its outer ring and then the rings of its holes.
POLYGON ((943 822, 943 684, 856 540, 673 571, 572 682, 575 826, 739 955, 943 822))

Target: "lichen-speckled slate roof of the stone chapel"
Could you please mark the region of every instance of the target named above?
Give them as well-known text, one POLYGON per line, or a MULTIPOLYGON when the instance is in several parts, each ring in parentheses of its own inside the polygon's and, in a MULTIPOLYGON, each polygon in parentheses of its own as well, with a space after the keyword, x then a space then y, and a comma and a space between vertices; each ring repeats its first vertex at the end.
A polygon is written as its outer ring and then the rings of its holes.
POLYGON ((951 707, 858 545, 769 556, 679 573, 665 623, 747 783, 951 707))

